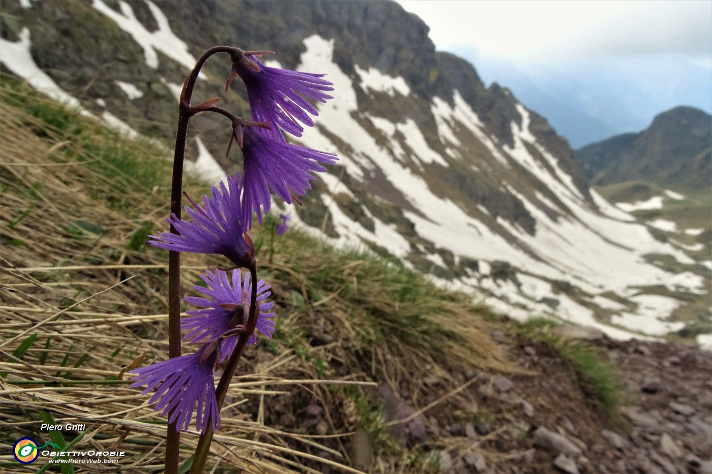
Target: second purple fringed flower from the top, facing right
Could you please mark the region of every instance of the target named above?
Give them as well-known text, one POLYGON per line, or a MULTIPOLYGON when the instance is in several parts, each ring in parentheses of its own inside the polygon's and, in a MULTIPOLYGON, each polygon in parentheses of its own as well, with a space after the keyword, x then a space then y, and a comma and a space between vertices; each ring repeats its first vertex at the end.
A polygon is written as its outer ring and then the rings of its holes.
POLYGON ((325 172, 319 163, 333 164, 337 157, 333 153, 278 141, 268 134, 268 130, 258 127, 243 127, 242 156, 244 168, 242 187, 243 223, 252 227, 252 211, 262 224, 260 206, 267 214, 271 199, 269 188, 288 204, 293 194, 304 196, 311 188, 310 180, 316 179, 311 172, 325 172))

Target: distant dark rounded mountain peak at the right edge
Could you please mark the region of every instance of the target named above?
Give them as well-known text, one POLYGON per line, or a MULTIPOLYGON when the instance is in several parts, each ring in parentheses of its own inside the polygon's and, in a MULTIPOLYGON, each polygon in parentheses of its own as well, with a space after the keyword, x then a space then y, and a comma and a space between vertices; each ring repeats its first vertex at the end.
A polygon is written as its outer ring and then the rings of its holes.
POLYGON ((712 184, 712 117, 693 107, 675 107, 640 133, 617 135, 576 154, 592 184, 645 179, 703 188, 712 184))

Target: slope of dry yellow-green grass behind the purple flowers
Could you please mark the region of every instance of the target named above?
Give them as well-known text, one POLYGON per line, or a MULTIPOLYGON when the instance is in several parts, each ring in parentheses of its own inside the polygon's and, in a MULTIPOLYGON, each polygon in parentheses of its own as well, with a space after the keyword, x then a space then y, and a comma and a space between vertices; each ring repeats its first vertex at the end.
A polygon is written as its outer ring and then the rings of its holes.
MULTIPOLYGON (((167 357, 167 253, 145 244, 153 229, 166 230, 167 153, 12 81, 1 93, 2 451, 21 436, 47 441, 37 421, 49 416, 88 423, 58 443, 120 448, 128 452, 122 472, 160 472, 164 418, 121 373, 167 357)), ((186 188, 206 190, 190 179, 186 188)), ((373 472, 423 472, 424 447, 389 438, 372 387, 387 383, 422 408, 433 394, 424 380, 436 377, 443 423, 487 416, 473 408, 476 392, 461 388, 466 374, 516 371, 490 337, 495 318, 396 263, 296 230, 273 240, 271 228, 268 219, 253 238, 261 276, 273 285, 277 332, 248 349, 238 369, 214 443, 224 455, 219 470, 352 465, 356 432, 368 435, 366 459, 377 454, 367 461, 373 472), (303 425, 310 404, 325 408, 317 426, 303 425)), ((185 294, 203 268, 225 264, 183 260, 185 294)), ((187 458, 197 436, 182 442, 187 458)))

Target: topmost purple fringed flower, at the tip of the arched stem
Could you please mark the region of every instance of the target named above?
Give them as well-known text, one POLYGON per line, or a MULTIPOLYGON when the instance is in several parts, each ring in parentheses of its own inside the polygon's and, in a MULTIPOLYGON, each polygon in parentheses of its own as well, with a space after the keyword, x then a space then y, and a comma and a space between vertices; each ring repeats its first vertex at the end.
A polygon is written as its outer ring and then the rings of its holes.
MULTIPOLYGON (((302 96, 319 102, 331 99, 332 97, 323 91, 334 90, 331 87, 333 84, 322 79, 324 74, 270 68, 263 65, 256 56, 247 55, 245 58, 253 60, 259 70, 255 70, 254 65, 249 64, 249 61, 240 61, 233 65, 228 85, 236 75, 243 80, 250 102, 252 120, 273 123, 295 137, 301 137, 304 130, 299 122, 313 127, 314 122, 307 112, 311 115, 319 115, 319 112, 302 96)), ((270 135, 274 139, 285 141, 276 127, 270 135)))

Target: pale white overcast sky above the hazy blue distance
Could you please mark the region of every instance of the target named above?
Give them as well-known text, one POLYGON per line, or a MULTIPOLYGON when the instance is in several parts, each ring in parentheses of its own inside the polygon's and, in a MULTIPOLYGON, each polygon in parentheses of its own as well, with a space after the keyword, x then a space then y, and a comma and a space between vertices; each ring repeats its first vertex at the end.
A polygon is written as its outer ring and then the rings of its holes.
POLYGON ((674 53, 712 69, 710 0, 397 0, 440 51, 552 63, 582 56, 674 53))

